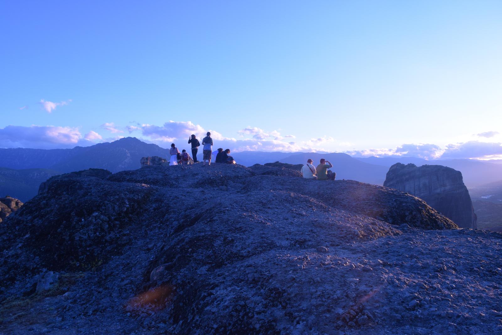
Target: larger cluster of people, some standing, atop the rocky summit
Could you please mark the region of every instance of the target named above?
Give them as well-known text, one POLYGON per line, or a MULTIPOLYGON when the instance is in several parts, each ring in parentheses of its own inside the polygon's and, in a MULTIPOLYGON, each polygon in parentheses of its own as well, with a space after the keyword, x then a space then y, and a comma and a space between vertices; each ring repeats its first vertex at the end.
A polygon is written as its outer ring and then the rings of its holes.
MULTIPOLYGON (((188 139, 188 144, 192 145, 192 156, 188 154, 188 152, 183 149, 181 152, 176 148, 176 145, 171 144, 171 149, 169 149, 169 154, 171 155, 171 160, 169 161, 169 165, 178 165, 178 164, 193 164, 197 163, 197 152, 199 151, 200 142, 197 140, 195 135, 191 135, 188 139)), ((211 138, 211 133, 207 132, 206 137, 202 139, 202 161, 203 166, 206 165, 206 161, 208 166, 211 166, 211 155, 213 148, 213 139, 211 138)), ((226 149, 223 151, 222 148, 218 149, 218 153, 216 154, 216 163, 228 163, 235 164, 232 156, 229 156, 230 149, 226 149)))

